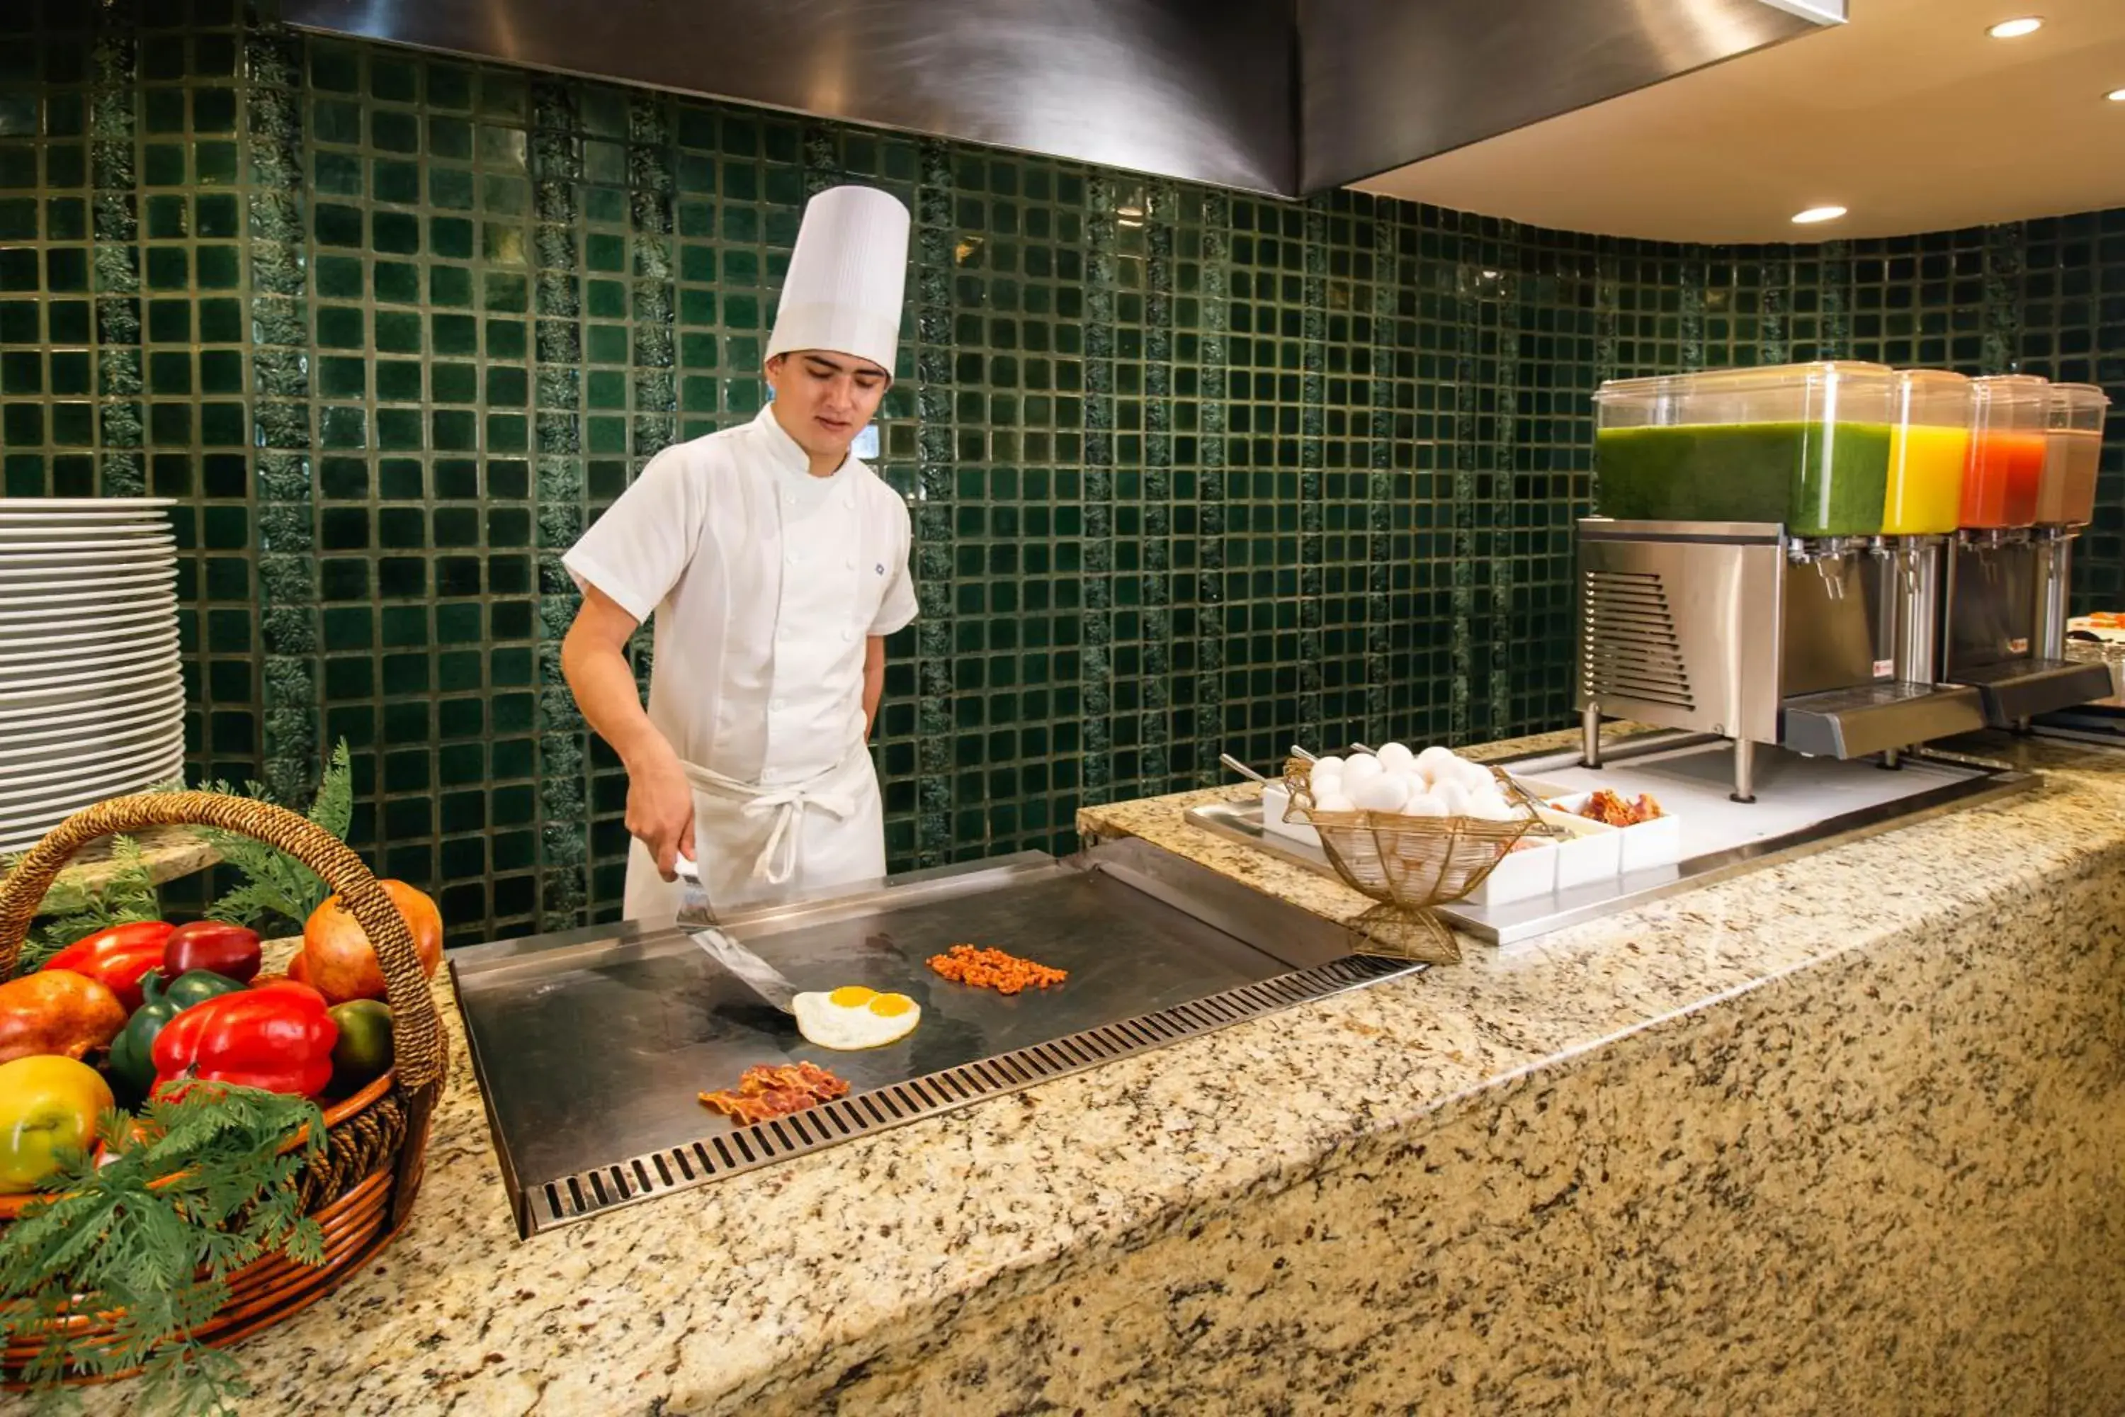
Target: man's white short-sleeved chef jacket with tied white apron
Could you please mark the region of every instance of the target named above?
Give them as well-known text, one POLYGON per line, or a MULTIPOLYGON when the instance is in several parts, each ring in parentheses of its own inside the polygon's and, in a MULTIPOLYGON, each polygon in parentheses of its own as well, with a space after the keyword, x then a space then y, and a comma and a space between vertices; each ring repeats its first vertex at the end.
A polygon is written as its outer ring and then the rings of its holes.
MULTIPOLYGON (((769 406, 659 453, 563 557, 576 584, 652 620, 648 716, 697 780, 695 837, 718 907, 884 873, 863 654, 869 635, 916 618, 910 544, 907 506, 878 474, 848 457, 812 476, 769 406), (771 814, 706 780, 799 797, 801 820, 784 822, 799 835, 778 848, 795 877, 765 888, 754 867, 771 814)), ((629 918, 678 909, 640 841, 627 901, 629 918)))

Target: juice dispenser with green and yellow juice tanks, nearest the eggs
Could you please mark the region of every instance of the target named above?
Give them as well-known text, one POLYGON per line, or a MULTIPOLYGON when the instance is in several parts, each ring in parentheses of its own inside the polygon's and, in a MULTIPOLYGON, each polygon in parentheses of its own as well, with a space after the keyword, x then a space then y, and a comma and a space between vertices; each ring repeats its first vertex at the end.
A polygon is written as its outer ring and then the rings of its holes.
POLYGON ((1983 727, 1936 684, 1940 546, 1957 525, 1968 380, 1800 363, 1613 380, 1594 395, 1579 523, 1579 710, 1755 744, 1893 754, 1983 727), (1891 518, 1898 529, 1891 533, 1891 518))

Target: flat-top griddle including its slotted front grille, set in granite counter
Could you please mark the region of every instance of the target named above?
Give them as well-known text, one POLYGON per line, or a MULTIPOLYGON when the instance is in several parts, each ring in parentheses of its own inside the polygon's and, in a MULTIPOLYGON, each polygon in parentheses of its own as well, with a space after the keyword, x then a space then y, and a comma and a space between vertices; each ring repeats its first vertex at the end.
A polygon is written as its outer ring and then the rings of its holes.
POLYGON ((1143 841, 933 873, 725 928, 801 990, 897 990, 922 1022, 888 1047, 814 1047, 676 928, 455 952, 525 1234, 1413 969, 1349 958, 1341 926, 1143 841), (954 943, 997 945, 1069 981, 1016 996, 952 984, 924 960, 954 943), (748 1066, 799 1060, 848 1079, 850 1096, 759 1126, 697 1098, 748 1066))

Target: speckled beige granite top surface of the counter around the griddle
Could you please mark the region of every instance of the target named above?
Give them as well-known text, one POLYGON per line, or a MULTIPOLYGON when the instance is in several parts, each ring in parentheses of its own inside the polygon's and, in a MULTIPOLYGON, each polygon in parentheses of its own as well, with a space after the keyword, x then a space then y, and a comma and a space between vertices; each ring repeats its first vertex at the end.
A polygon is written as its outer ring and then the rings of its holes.
MULTIPOLYGON (((412 1226, 242 1345, 261 1387, 244 1411, 820 1411, 837 1383, 920 1364, 954 1326, 1213 1207, 1379 1164, 1441 1115, 1494 1107, 1494 1088, 1619 1032, 1978 901, 2121 869, 2125 754, 2000 750, 2046 769, 2044 784, 525 1243, 446 1009, 450 1090, 412 1226)), ((1082 826, 1330 918, 1360 909, 1334 882, 1182 822, 1247 790, 1092 807, 1082 826)), ((967 1392, 967 1411, 1012 1404, 967 1392)), ((128 1392, 87 1402, 117 1413, 128 1392)))

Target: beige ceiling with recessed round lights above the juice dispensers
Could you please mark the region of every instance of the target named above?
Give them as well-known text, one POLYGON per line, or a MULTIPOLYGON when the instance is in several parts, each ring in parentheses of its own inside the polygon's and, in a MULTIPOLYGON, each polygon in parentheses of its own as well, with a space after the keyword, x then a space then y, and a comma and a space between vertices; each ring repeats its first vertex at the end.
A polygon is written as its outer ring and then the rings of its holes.
POLYGON ((2125 206, 2125 0, 1851 0, 1851 23, 1358 183, 1545 227, 1896 236, 2125 206), (1995 40, 1987 25, 2040 15, 1995 40), (1849 215, 1794 225, 1836 204, 1849 215))

